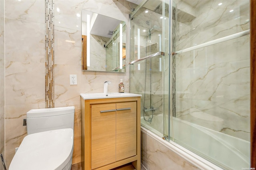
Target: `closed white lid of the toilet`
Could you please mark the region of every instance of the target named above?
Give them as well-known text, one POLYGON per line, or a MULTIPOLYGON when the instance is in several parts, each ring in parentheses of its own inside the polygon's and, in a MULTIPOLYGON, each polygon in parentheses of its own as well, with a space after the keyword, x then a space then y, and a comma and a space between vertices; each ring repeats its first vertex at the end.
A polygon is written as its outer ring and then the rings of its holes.
POLYGON ((73 140, 73 129, 27 135, 9 170, 62 170, 72 158, 73 140))

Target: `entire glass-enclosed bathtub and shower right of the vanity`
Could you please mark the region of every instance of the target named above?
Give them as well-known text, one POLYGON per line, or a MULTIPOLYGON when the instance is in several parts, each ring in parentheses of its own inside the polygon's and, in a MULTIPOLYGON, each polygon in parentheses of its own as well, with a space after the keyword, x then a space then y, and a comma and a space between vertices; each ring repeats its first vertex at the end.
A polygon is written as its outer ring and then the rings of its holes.
MULTIPOLYGON (((250 168, 249 5, 144 0, 130 14, 130 92, 142 94, 142 134, 194 169, 250 168)), ((142 154, 143 163, 159 164, 142 154)))

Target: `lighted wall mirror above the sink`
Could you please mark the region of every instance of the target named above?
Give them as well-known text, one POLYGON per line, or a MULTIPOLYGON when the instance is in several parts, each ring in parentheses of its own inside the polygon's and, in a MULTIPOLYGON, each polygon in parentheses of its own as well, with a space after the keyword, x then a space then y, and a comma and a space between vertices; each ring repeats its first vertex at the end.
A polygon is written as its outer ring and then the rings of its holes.
POLYGON ((82 10, 82 70, 125 72, 126 23, 82 10))

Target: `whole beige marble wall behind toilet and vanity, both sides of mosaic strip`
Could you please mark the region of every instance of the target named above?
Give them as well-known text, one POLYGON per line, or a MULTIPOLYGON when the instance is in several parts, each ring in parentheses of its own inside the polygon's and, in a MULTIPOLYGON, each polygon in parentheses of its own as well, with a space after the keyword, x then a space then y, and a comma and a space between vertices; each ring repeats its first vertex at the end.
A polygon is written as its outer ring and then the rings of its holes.
MULTIPOLYGON (((112 82, 109 92, 117 92, 120 79, 124 79, 125 92, 129 91, 129 68, 122 74, 81 70, 81 18, 76 14, 85 9, 128 23, 128 13, 134 4, 124 0, 55 0, 54 8, 54 104, 55 107, 75 106, 74 164, 81 161, 80 93, 103 92, 106 80, 112 82), (78 85, 70 86, 70 74, 77 75, 78 85)), ((44 14, 44 0, 5 0, 7 167, 15 148, 27 135, 26 127, 22 126, 26 112, 45 107, 44 14)))

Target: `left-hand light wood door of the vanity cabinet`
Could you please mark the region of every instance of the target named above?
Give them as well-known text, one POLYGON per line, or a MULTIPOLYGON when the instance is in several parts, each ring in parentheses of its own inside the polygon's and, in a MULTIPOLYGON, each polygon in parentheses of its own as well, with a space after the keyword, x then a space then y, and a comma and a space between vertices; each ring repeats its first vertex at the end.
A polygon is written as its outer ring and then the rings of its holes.
POLYGON ((92 105, 92 169, 115 161, 116 104, 92 105))

